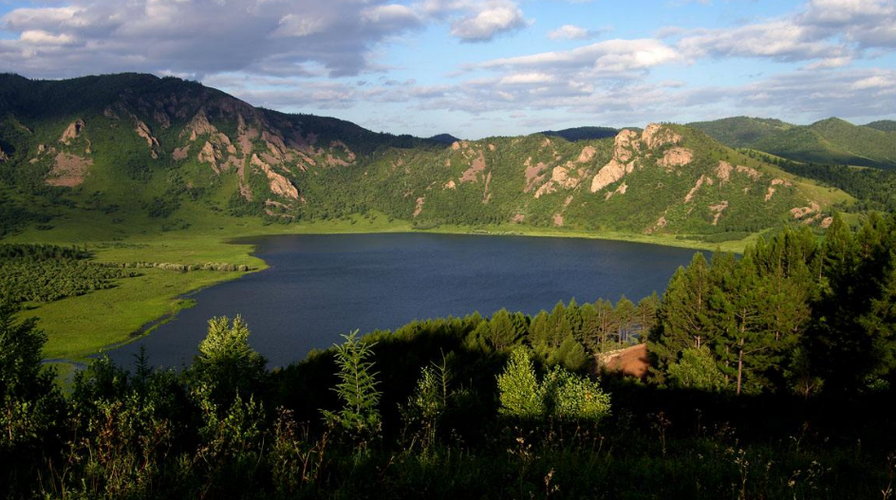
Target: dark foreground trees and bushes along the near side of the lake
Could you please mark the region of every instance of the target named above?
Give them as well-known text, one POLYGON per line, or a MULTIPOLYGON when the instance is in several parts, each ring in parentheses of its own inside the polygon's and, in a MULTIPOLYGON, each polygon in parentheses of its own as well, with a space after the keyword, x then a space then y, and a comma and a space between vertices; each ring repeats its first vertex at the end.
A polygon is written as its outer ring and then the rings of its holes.
POLYGON ((896 217, 695 257, 662 300, 346 337, 273 372, 241 319, 70 395, 0 312, 12 498, 892 498, 896 217), (860 286, 856 286, 859 284, 860 286), (647 336, 645 381, 598 354, 647 336), (645 335, 646 334, 646 335, 645 335), (859 424, 861 422, 861 424, 859 424), (15 457, 15 460, 13 460, 15 457))

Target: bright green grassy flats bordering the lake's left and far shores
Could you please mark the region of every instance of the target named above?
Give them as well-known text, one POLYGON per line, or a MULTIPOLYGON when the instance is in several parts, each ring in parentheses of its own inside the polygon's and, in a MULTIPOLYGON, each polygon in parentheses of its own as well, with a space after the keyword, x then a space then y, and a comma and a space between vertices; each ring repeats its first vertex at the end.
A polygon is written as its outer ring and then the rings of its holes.
MULTIPOLYGON (((186 210, 186 229, 161 231, 158 222, 135 218, 127 226, 104 223, 96 213, 77 214, 53 220, 50 230, 28 229, 7 242, 77 244, 86 246, 98 262, 168 262, 203 264, 206 262, 247 265, 249 272, 266 269, 263 260, 252 255, 253 246, 239 238, 279 234, 341 234, 414 232, 406 221, 392 220, 383 214, 371 213, 341 220, 301 224, 270 224, 255 218, 234 218, 206 213, 201 207, 186 210), (112 229, 110 229, 110 227, 112 229), (237 241, 234 241, 237 240, 237 241)), ((108 221, 107 221, 108 222, 108 221)), ((439 226, 433 233, 523 235, 536 237, 573 237, 624 240, 694 249, 742 251, 758 235, 745 240, 710 244, 675 236, 647 236, 628 233, 588 233, 556 229, 533 229, 504 224, 485 227, 439 226)), ((49 336, 46 358, 62 363, 61 372, 68 376, 68 363, 89 362, 90 355, 104 348, 133 341, 148 333, 146 325, 170 318, 190 304, 183 295, 204 287, 237 279, 245 273, 224 271, 176 272, 141 269, 141 276, 119 280, 115 288, 92 292, 39 305, 23 314, 39 318, 49 336)))

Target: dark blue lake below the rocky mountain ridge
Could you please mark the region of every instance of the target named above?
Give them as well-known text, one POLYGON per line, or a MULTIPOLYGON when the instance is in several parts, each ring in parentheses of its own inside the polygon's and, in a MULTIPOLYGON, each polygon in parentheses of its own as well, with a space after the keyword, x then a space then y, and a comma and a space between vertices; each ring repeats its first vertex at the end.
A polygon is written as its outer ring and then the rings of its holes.
POLYGON ((271 366, 304 358, 340 334, 395 329, 415 319, 535 314, 558 301, 662 294, 694 250, 577 238, 442 234, 260 237, 270 269, 192 295, 196 307, 109 352, 122 366, 146 347, 154 366, 189 364, 214 316, 242 315, 271 366))

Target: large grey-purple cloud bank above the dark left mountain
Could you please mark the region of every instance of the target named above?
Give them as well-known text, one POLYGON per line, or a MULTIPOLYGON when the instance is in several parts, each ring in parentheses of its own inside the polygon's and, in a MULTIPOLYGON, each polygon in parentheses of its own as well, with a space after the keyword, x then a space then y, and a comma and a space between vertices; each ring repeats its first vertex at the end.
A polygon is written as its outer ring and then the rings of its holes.
POLYGON ((0 40, 0 58, 32 76, 129 70, 201 77, 306 66, 344 76, 375 67, 369 53, 377 44, 423 24, 416 11, 389 0, 71 0, 0 18, 16 36, 0 40))

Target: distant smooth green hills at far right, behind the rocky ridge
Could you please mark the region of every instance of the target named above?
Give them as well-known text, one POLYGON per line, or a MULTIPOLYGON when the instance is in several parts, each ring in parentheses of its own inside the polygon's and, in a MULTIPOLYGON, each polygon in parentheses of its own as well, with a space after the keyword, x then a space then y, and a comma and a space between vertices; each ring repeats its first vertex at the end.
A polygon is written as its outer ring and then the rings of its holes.
POLYGON ((888 123, 857 126, 839 118, 792 125, 761 118, 691 123, 733 148, 757 149, 795 161, 896 168, 896 132, 888 123))

